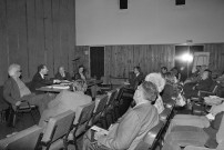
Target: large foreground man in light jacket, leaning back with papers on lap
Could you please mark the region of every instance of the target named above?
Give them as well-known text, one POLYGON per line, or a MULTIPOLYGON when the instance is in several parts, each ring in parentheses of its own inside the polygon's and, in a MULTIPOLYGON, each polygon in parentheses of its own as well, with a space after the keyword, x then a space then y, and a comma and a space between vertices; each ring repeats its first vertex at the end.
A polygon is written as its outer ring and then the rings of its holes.
POLYGON ((91 141, 90 130, 83 137, 83 150, 124 150, 134 149, 150 129, 159 122, 156 109, 151 104, 156 99, 157 89, 150 81, 144 81, 134 93, 136 106, 124 113, 116 123, 109 128, 109 133, 95 132, 95 142, 91 141))

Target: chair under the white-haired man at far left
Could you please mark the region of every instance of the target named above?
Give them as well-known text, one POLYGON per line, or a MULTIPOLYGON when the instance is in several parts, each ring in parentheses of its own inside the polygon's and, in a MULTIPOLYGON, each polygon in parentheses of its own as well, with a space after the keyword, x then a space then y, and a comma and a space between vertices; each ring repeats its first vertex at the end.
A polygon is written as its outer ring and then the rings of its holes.
MULTIPOLYGON (((16 127, 17 118, 20 113, 30 113, 32 117, 33 122, 35 123, 34 117, 32 114, 32 110, 38 109, 37 106, 30 104, 28 101, 22 100, 20 106, 17 106, 16 109, 13 109, 12 106, 10 106, 10 117, 12 117, 12 127, 16 127)), ((11 118, 9 119, 11 121, 11 118)))

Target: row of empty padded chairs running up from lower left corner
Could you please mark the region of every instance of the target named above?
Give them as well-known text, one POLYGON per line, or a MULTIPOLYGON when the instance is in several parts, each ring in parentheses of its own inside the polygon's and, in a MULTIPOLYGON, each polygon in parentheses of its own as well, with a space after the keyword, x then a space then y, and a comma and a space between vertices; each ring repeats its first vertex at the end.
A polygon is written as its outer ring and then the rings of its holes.
POLYGON ((1 150, 39 150, 39 149, 68 149, 93 124, 99 122, 106 128, 119 118, 119 99, 123 88, 109 91, 106 96, 98 97, 94 102, 78 108, 77 114, 67 111, 50 118, 43 129, 33 126, 14 136, 0 140, 1 150), (77 118, 75 118, 77 116, 77 118), (102 120, 105 120, 102 123, 102 120), (65 122, 65 123, 64 123, 65 122), (72 138, 70 138, 70 134, 72 138), (28 142, 29 141, 29 142, 28 142))

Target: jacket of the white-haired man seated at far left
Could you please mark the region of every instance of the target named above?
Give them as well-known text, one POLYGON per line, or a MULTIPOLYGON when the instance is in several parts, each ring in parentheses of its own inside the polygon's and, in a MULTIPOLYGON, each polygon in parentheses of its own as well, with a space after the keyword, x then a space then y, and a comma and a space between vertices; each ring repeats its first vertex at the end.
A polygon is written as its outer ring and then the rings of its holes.
POLYGON ((22 100, 19 91, 19 87, 13 78, 9 78, 3 86, 3 98, 11 104, 16 104, 17 101, 22 100))

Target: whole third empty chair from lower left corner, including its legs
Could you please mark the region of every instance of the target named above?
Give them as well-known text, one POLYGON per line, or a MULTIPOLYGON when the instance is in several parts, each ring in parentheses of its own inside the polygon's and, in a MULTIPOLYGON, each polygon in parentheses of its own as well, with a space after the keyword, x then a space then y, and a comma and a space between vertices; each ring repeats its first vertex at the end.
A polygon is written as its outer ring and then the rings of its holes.
POLYGON ((84 104, 78 108, 77 119, 74 120, 72 128, 73 140, 68 139, 68 136, 64 138, 64 147, 68 149, 68 144, 74 144, 75 150, 78 150, 77 140, 89 129, 89 121, 93 114, 95 102, 84 104))

